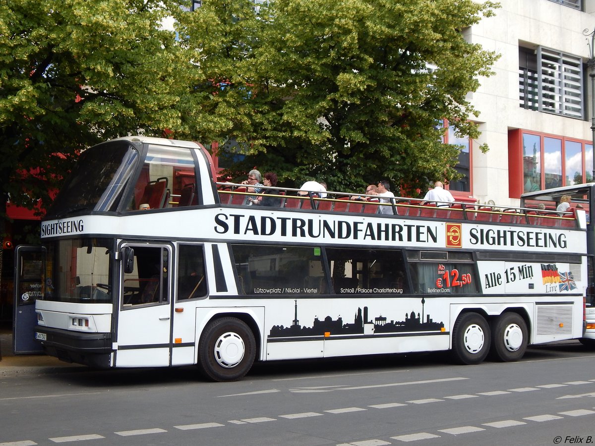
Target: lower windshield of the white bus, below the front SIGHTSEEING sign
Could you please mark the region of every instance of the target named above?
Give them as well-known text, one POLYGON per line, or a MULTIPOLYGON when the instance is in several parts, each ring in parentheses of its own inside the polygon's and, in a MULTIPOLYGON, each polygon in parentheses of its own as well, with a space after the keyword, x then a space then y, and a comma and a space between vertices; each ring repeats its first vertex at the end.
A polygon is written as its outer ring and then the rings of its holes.
POLYGON ((47 243, 49 261, 43 300, 111 302, 112 245, 113 241, 107 238, 73 238, 47 243))

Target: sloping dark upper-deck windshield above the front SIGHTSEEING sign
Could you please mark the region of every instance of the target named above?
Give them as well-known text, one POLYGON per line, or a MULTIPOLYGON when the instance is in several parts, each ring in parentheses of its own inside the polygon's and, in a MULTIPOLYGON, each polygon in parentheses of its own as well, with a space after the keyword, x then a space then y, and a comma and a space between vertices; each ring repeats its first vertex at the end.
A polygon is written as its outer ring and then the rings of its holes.
POLYGON ((48 210, 48 218, 70 213, 115 211, 139 153, 117 140, 84 150, 48 210))

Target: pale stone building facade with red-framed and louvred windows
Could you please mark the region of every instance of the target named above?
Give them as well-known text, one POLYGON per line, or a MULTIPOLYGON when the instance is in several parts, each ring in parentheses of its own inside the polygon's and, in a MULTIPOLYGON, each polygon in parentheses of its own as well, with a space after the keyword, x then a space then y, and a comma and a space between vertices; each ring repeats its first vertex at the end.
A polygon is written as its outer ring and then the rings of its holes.
POLYGON ((453 194, 518 205, 524 191, 593 178, 592 43, 585 34, 595 29, 595 0, 500 5, 494 17, 463 31, 500 59, 495 74, 468 95, 482 133, 467 145, 468 190, 454 185, 453 194), (485 154, 483 143, 490 147, 485 154))

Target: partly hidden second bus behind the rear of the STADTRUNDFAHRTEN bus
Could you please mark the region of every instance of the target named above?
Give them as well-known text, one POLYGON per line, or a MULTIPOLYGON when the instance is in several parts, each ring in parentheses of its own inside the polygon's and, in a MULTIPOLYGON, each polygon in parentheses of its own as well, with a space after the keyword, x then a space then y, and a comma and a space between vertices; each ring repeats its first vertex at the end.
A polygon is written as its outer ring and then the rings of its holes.
MULTIPOLYGON (((528 192, 521 196, 521 206, 533 209, 546 218, 547 215, 569 215, 585 213, 587 228, 587 293, 585 296, 586 326, 581 343, 595 347, 595 278, 593 276, 593 262, 595 262, 595 227, 591 224, 591 210, 595 209, 595 183, 575 184, 574 186, 556 187, 554 189, 528 192), (556 211, 560 199, 564 196, 571 198, 570 207, 566 212, 556 211)), ((537 217, 538 218, 538 217, 537 217)))

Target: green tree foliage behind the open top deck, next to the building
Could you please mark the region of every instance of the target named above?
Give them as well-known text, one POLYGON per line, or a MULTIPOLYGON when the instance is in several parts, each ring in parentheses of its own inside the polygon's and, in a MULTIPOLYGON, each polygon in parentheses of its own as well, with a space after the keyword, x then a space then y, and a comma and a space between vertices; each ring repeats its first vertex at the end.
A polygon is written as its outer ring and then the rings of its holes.
POLYGON ((255 20, 249 4, 204 0, 180 22, 195 44, 196 83, 210 89, 183 102, 218 121, 204 136, 240 143, 246 158, 232 174, 256 166, 287 186, 324 178, 333 190, 382 178, 424 190, 456 177, 459 149, 441 143, 437 123, 478 137, 466 95, 496 55, 464 30, 497 5, 273 0, 255 20), (226 86, 214 92, 212 80, 226 86))

